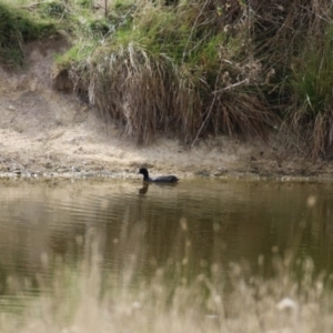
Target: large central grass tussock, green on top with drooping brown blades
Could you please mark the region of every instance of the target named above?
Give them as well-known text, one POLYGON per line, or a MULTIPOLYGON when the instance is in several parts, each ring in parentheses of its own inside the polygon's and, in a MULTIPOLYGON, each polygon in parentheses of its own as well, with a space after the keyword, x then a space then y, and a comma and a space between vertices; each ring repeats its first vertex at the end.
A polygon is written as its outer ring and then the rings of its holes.
POLYGON ((122 20, 102 44, 94 40, 84 57, 71 50, 59 67, 77 93, 138 143, 165 132, 189 143, 211 131, 265 138, 276 118, 258 90, 262 68, 242 40, 249 34, 242 7, 230 9, 238 13, 232 22, 221 16, 229 13, 224 4, 115 4, 112 19, 119 12, 122 20), (236 32, 225 29, 229 21, 236 32))

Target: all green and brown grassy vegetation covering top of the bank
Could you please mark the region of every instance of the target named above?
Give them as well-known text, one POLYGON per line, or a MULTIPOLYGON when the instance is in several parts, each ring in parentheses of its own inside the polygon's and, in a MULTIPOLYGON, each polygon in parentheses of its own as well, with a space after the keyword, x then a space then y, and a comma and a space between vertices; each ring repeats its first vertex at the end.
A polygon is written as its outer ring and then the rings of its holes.
POLYGON ((160 133, 190 144, 209 133, 264 139, 273 128, 287 147, 333 158, 330 1, 11 3, 0 8, 2 61, 30 38, 7 23, 9 12, 33 14, 31 29, 49 22, 72 42, 57 58, 56 85, 71 87, 138 143, 160 133))

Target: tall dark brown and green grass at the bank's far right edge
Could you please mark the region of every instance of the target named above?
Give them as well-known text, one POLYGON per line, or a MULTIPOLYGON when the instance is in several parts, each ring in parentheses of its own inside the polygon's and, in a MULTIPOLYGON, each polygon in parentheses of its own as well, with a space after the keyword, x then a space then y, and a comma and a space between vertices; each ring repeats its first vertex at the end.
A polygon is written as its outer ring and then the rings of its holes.
POLYGON ((252 9, 256 54, 275 71, 268 99, 289 131, 286 147, 332 159, 332 3, 253 1, 252 9))

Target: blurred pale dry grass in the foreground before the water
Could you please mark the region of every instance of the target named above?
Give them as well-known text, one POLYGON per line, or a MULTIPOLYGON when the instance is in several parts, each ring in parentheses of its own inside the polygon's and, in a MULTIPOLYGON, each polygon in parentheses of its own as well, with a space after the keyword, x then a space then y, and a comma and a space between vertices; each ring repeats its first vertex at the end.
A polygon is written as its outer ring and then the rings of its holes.
MULTIPOLYGON (((134 248, 139 239, 131 240, 134 248)), ((246 264, 225 268, 216 262, 209 274, 185 279, 184 260, 170 260, 154 273, 141 275, 140 255, 134 253, 122 253, 121 270, 105 269, 98 235, 90 232, 81 263, 58 260, 51 280, 39 275, 39 293, 21 291, 9 300, 20 304, 19 312, 1 303, 1 332, 307 333, 333 329, 331 276, 315 274, 310 258, 294 261, 293 255, 276 252, 269 276, 251 275, 246 264)), ((258 264, 259 272, 266 265, 263 258, 258 264)))

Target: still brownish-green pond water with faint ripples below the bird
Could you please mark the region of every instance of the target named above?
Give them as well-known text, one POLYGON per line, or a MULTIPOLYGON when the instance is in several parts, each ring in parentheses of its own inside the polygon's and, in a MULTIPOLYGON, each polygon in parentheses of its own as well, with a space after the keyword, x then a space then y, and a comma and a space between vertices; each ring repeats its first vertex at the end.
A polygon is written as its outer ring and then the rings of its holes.
MULTIPOLYGON (((142 280, 170 262, 185 268, 186 279, 230 262, 246 262, 256 274, 259 256, 269 262, 272 249, 294 249, 333 271, 332 184, 182 180, 141 189, 140 181, 19 181, 1 184, 0 209, 2 295, 13 292, 13 276, 16 292, 36 290, 53 262, 75 266, 92 239, 103 270, 142 280)), ((269 265, 261 271, 271 273, 269 265)))

